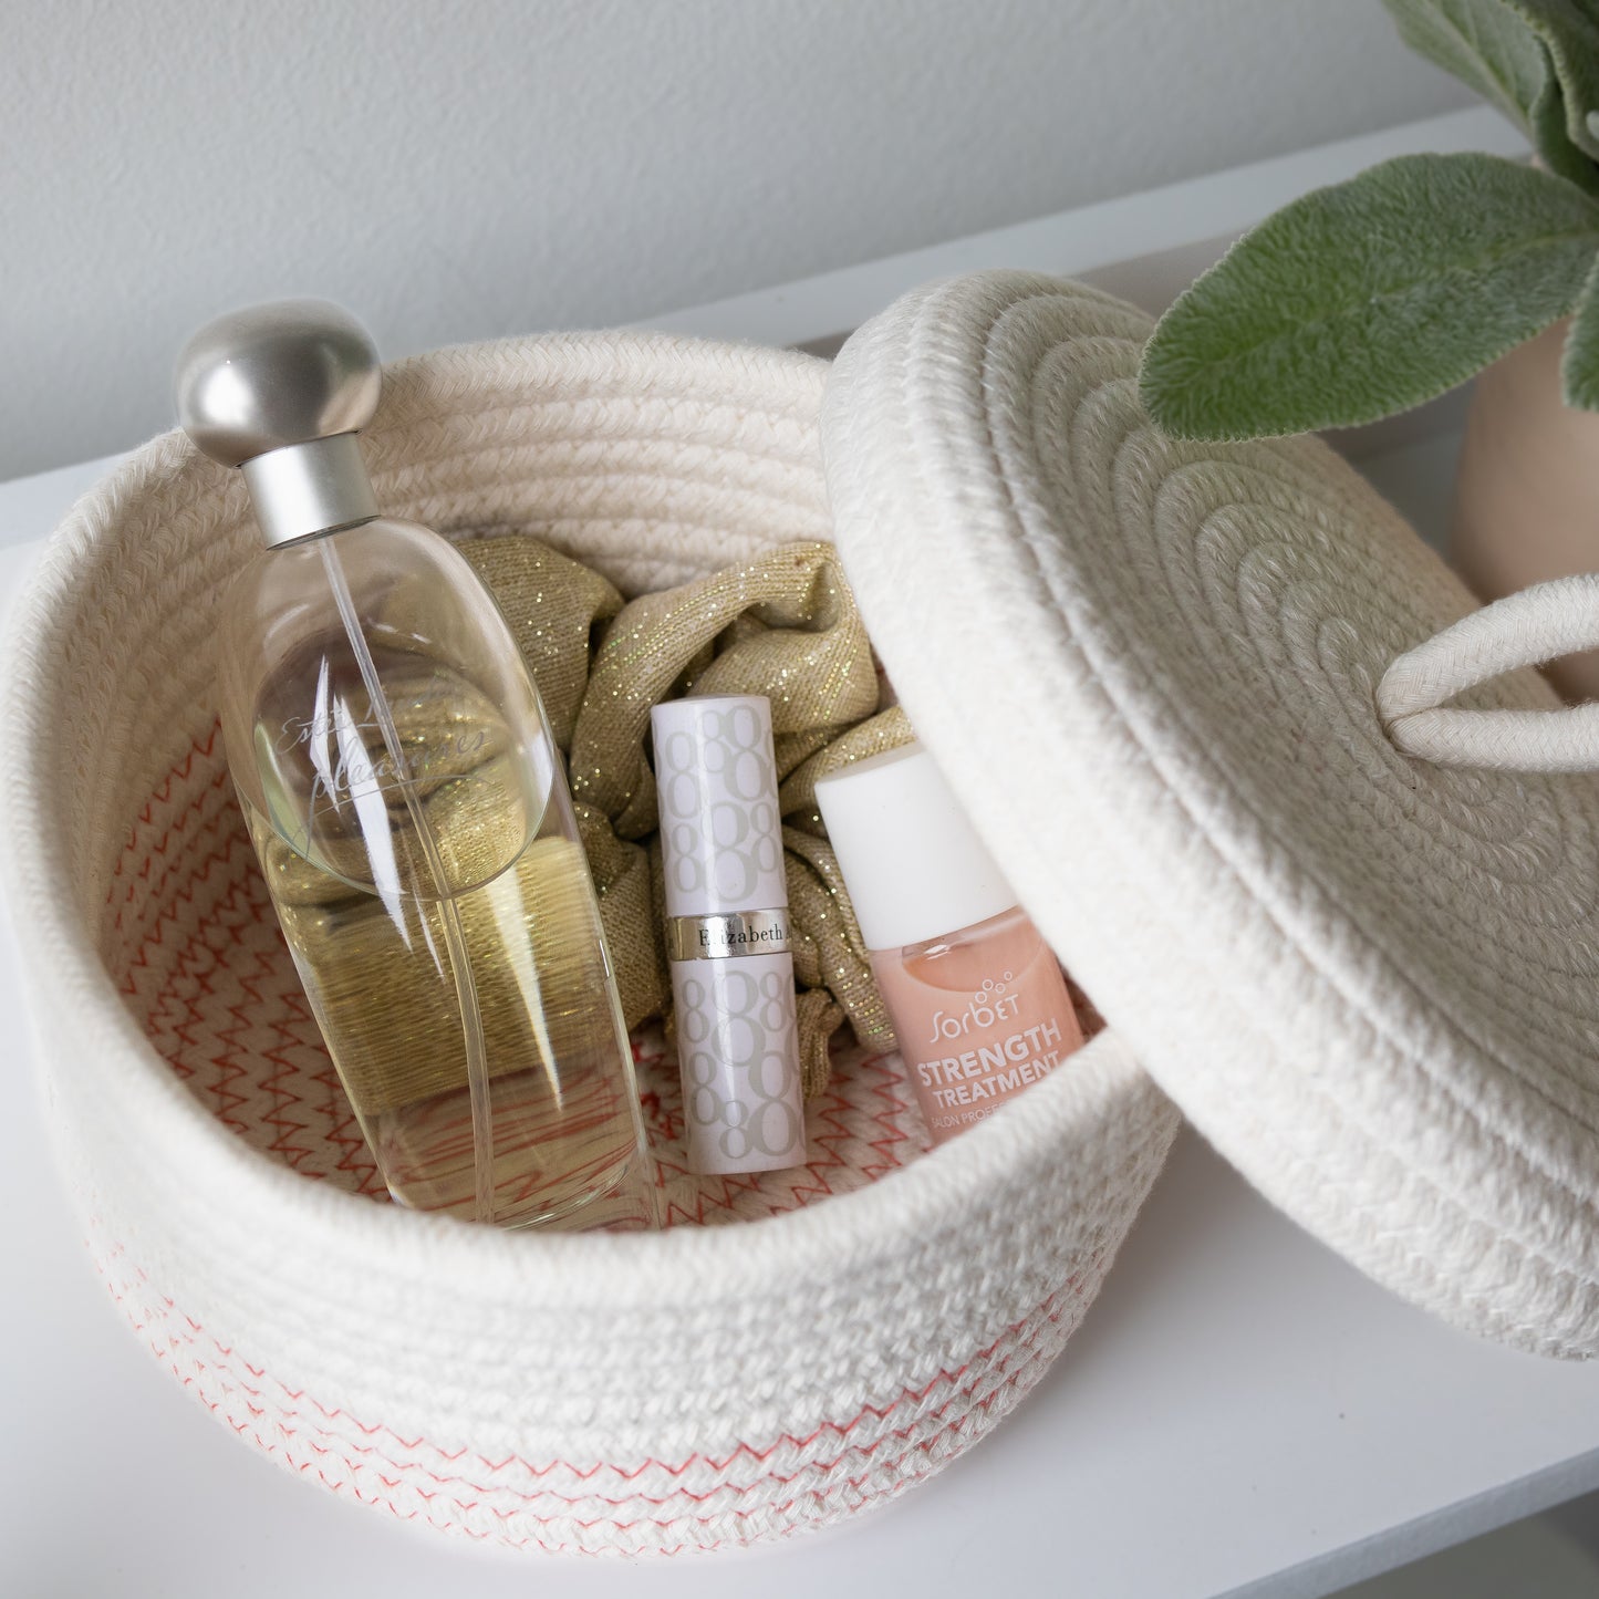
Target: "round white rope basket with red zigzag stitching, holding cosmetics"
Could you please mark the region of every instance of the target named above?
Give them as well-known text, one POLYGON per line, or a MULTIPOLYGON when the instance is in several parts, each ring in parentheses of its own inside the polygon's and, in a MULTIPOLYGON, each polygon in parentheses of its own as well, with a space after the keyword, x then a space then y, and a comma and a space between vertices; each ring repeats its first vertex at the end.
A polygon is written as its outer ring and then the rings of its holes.
MULTIPOLYGON (((627 334, 451 350, 389 373, 368 459, 390 515, 532 532, 638 593, 828 536, 825 373, 627 334)), ((160 438, 58 532, 10 649, 8 902, 59 1156, 138 1334, 288 1469, 529 1549, 772 1538, 982 1438, 1175 1130, 1126 1047, 924 1159, 894 1059, 846 1062, 811 1167, 657 1236, 381 1202, 216 731, 211 633, 256 548, 237 475, 160 438)))

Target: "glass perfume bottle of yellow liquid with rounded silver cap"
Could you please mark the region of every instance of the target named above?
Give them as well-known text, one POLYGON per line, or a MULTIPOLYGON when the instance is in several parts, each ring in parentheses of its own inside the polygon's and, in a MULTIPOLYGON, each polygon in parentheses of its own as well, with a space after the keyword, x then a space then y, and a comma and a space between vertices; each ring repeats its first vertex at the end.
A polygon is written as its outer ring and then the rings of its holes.
POLYGON ((499 608, 379 516, 376 350, 291 301, 201 329, 184 429, 265 550, 217 622, 229 766, 390 1194, 500 1226, 656 1222, 633 1055, 561 756, 499 608))

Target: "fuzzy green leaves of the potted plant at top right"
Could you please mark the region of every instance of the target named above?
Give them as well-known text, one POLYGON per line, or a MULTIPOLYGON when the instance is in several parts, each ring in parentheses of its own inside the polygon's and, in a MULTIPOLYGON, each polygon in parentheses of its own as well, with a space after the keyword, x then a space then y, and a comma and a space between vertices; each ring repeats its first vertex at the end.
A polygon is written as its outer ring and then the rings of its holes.
POLYGON ((1567 315, 1565 403, 1599 411, 1599 0, 1383 3, 1538 165, 1401 155, 1266 217, 1150 341, 1140 390, 1164 432, 1375 422, 1567 315))

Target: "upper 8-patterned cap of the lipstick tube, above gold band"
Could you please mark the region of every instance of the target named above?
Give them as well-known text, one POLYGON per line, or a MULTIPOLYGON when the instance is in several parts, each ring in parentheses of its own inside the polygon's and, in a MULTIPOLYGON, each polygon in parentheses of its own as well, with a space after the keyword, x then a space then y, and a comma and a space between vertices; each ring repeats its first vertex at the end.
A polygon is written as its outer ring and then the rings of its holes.
POLYGON ((649 713, 668 916, 787 910, 772 702, 667 700, 649 713))

